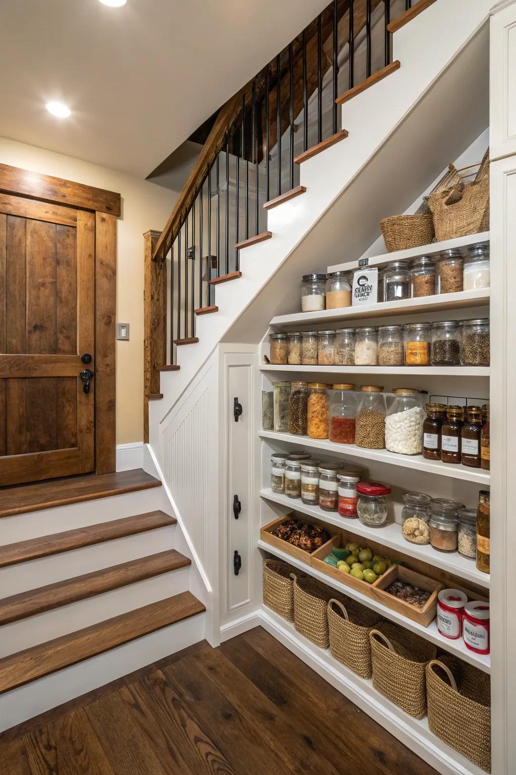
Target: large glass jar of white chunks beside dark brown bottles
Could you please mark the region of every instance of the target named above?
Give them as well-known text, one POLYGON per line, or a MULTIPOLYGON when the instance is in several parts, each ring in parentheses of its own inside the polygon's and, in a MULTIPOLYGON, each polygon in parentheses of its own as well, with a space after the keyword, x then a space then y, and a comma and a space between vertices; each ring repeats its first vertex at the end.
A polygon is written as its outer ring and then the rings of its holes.
POLYGON ((385 449, 401 455, 423 451, 423 409, 421 394, 412 387, 395 387, 395 396, 385 417, 385 449))

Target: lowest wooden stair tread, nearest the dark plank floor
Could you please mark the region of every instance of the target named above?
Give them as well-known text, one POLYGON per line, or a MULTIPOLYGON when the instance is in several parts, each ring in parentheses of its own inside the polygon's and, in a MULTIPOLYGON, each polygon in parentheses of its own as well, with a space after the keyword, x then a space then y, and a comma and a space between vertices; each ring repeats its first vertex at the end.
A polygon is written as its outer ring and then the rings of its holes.
POLYGON ((173 598, 136 608, 70 635, 5 656, 0 660, 0 693, 29 684, 32 680, 182 622, 205 610, 191 592, 181 592, 173 598))

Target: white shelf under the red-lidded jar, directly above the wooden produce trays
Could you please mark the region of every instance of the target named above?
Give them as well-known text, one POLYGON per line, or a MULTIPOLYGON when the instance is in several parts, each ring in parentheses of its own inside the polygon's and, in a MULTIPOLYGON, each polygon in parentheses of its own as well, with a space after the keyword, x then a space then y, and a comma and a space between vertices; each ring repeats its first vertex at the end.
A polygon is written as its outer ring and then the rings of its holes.
POLYGON ((429 544, 419 546, 418 544, 405 541, 402 525, 398 525, 397 522, 389 522, 381 528, 370 528, 367 525, 362 525, 360 519, 341 517, 337 512, 325 512, 319 506, 307 506, 302 503, 301 498, 288 498, 284 494, 272 492, 270 488, 261 490, 260 495, 261 498, 285 506, 285 509, 288 511, 293 510, 306 514, 309 517, 320 520, 320 522, 326 522, 327 525, 334 525, 337 528, 349 530, 355 535, 362 536, 370 541, 381 543, 395 553, 402 553, 415 557, 416 560, 429 563, 429 565, 435 565, 439 570, 446 570, 448 573, 459 577, 464 583, 466 581, 473 581, 486 589, 490 586, 489 574, 483 574, 480 570, 477 570, 475 560, 469 560, 458 552, 453 554, 436 552, 429 544))

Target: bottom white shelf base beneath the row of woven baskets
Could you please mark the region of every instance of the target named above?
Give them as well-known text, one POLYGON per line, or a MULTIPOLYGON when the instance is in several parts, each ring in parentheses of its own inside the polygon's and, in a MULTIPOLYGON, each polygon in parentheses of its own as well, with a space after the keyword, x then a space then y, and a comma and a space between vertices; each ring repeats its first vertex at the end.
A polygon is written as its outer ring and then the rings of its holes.
POLYGON ((412 718, 384 698, 371 680, 365 680, 337 662, 330 650, 320 649, 296 632, 294 625, 267 608, 261 608, 261 625, 328 683, 374 718, 384 729, 415 751, 442 775, 485 775, 484 770, 446 746, 429 730, 428 719, 412 718))

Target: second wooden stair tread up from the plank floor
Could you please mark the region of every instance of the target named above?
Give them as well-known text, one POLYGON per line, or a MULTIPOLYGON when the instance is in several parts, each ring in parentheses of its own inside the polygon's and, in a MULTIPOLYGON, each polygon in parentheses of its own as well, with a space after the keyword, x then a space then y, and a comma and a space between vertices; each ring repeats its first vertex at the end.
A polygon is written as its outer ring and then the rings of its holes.
POLYGON ((190 564, 188 557, 176 552, 176 549, 169 549, 148 557, 140 557, 138 560, 94 570, 90 574, 58 581, 56 584, 48 584, 46 587, 14 594, 10 598, 0 600, 0 625, 18 622, 19 619, 60 608, 61 605, 93 598, 94 595, 166 574, 190 564))

